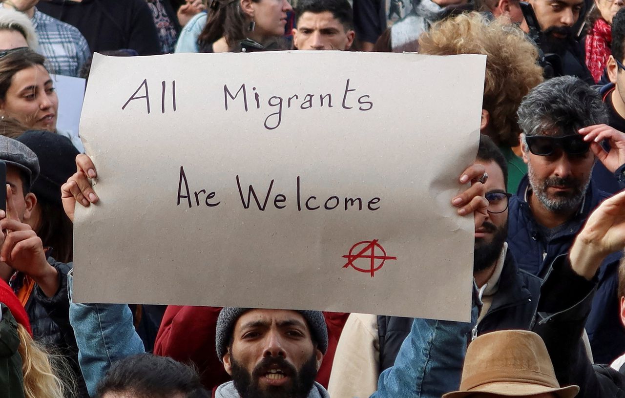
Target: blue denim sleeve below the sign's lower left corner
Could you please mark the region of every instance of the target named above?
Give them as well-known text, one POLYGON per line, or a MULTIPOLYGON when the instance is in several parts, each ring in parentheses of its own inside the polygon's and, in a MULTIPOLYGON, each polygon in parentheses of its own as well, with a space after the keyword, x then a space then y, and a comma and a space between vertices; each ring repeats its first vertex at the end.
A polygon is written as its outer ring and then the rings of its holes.
POLYGON ((145 352, 134 330, 133 314, 126 304, 76 304, 72 301, 73 276, 68 275, 69 322, 76 334, 78 362, 89 395, 111 364, 145 352))

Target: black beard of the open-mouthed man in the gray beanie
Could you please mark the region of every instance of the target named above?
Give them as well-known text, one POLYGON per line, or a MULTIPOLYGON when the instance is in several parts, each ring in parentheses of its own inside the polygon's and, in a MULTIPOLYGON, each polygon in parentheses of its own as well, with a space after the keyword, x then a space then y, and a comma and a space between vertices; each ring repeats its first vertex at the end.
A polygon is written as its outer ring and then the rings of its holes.
POLYGON ((304 363, 299 372, 282 357, 266 357, 254 367, 252 374, 237 362, 232 361, 232 381, 241 398, 306 398, 311 391, 314 379, 317 377, 317 359, 313 353, 304 363), (285 374, 291 382, 284 386, 268 386, 261 389, 258 380, 267 373, 271 366, 285 369, 285 374))

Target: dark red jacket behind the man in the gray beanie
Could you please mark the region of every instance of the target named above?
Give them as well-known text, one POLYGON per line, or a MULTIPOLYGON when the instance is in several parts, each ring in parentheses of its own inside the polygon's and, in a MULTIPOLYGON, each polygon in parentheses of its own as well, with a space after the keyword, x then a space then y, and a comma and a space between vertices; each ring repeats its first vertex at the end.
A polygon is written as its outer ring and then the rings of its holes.
MULTIPOLYGON (((202 384, 209 391, 230 380, 215 349, 215 329, 221 307, 169 306, 154 343, 154 354, 194 364, 202 384)), ((327 325, 327 352, 316 381, 327 388, 334 352, 349 314, 324 312, 327 325)))

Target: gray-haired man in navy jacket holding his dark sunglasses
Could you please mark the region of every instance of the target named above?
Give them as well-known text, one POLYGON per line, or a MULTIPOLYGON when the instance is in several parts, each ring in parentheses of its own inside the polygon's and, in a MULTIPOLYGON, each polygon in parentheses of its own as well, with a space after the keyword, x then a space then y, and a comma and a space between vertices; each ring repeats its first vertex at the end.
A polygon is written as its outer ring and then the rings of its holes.
MULTIPOLYGON (((569 251, 591 211, 609 197, 591 181, 597 157, 606 162, 608 156, 597 151, 596 142, 591 150, 582 135, 594 139, 601 129, 595 125, 607 121, 607 112, 597 91, 563 76, 534 87, 517 114, 528 173, 509 203, 507 242, 521 269, 545 277, 554 259, 569 251)), ((603 262, 586 324, 597 363, 610 363, 625 351, 616 297, 620 257, 621 252, 611 254, 603 262)))

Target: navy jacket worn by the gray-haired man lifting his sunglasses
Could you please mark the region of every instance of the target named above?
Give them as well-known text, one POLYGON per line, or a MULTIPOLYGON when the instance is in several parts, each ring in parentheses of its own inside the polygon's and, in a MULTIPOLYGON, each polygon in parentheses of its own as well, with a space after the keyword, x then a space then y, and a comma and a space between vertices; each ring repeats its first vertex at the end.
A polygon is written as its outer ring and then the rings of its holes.
MULTIPOLYGON (((541 236, 537 222, 532 216, 525 193, 529 181, 523 177, 519 190, 510 198, 508 209, 508 250, 512 252, 519 268, 536 276, 544 277, 549 266, 561 254, 566 254, 586 218, 609 194, 599 191, 592 181, 588 186, 582 207, 572 219, 569 229, 551 237, 541 236)), ((611 254, 601 264, 597 295, 586 322, 592 355, 597 363, 609 364, 625 352, 625 329, 619 319, 617 297, 618 266, 622 252, 611 254)))

